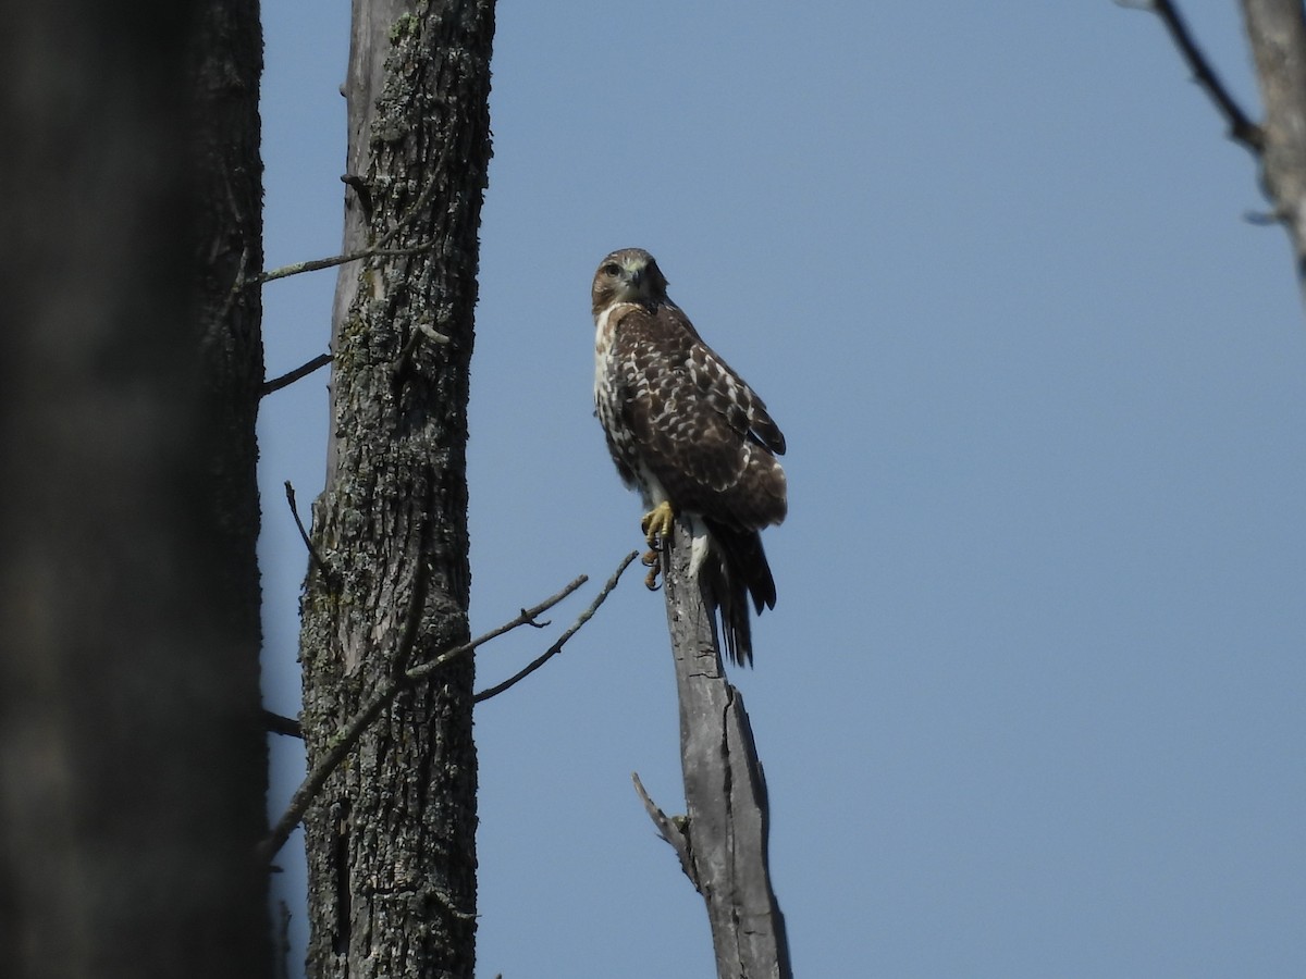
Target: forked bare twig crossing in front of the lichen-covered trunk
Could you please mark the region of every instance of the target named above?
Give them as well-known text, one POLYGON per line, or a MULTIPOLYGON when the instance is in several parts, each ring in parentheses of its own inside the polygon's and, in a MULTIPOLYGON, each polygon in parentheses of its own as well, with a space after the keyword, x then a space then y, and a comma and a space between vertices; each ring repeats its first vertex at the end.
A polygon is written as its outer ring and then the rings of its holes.
MULTIPOLYGON (((426 567, 424 561, 418 564, 419 570, 423 567, 426 567)), ((272 828, 272 831, 259 845, 259 858, 261 860, 270 860, 277 854, 277 851, 286 845, 286 841, 290 838, 290 834, 294 831, 295 826, 299 825, 300 820, 303 820, 304 813, 308 811, 308 807, 317 796, 317 792, 321 791, 321 787, 324 785, 326 785, 326 779, 330 778, 330 774, 340 766, 340 764, 345 760, 349 752, 354 748, 354 745, 358 743, 358 739, 362 738, 363 731, 366 731, 367 727, 372 723, 372 721, 375 721, 380 715, 380 713, 387 706, 389 706, 389 704, 394 700, 394 697, 398 696, 400 691, 410 687, 411 684, 417 683, 421 679, 424 679, 426 676, 430 676, 432 672, 435 672, 435 670, 444 666, 451 659, 454 659, 456 657, 460 655, 465 655, 471 650, 477 649, 477 646, 481 646, 488 642, 490 640, 496 638, 505 632, 509 632, 511 629, 516 629, 517 627, 521 625, 534 625, 535 619, 541 614, 552 608, 555 604, 562 602, 564 598, 567 598, 572 591, 579 589, 586 581, 589 581, 589 578, 581 574, 579 578, 572 581, 569 585, 567 585, 567 587, 564 587, 558 594, 546 598, 534 608, 522 608, 521 612, 515 619, 511 619, 499 628, 491 629, 483 636, 471 640, 471 642, 465 642, 460 646, 454 646, 453 649, 441 653, 439 657, 436 657, 428 663, 422 663, 421 666, 415 666, 411 670, 396 674, 385 683, 383 683, 372 693, 371 700, 368 700, 367 704, 364 704, 363 707, 357 714, 354 714, 353 718, 350 718, 349 723, 345 724, 345 727, 342 727, 340 731, 337 731, 336 735, 328 741, 325 751, 313 764, 312 770, 299 785, 299 788, 295 790, 295 794, 291 796, 290 804, 286 807, 286 811, 281 815, 281 818, 277 820, 277 824, 272 828)), ((424 587, 419 587, 419 582, 414 581, 413 594, 418 595, 419 593, 423 591, 424 587)), ((415 623, 421 621, 421 610, 422 610, 421 599, 418 599, 415 603, 410 603, 407 620, 405 623, 404 636, 400 638, 400 650, 396 658, 397 662, 402 663, 407 660, 409 651, 418 633, 415 623), (415 608, 413 607, 413 604, 415 604, 415 608)))

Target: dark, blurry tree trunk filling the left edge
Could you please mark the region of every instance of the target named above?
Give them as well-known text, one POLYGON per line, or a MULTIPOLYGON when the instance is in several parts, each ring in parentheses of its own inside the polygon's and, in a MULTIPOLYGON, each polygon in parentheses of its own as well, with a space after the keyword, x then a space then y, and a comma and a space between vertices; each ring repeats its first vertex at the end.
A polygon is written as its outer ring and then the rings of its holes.
POLYGON ((4 974, 268 976, 257 5, 10 5, 0 56, 4 974))

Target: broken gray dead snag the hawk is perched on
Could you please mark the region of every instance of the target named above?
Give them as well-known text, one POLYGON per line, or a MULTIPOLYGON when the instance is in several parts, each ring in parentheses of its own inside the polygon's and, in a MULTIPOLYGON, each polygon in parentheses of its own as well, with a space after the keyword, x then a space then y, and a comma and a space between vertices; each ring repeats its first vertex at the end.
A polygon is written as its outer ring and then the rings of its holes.
MULTIPOLYGON (((690 576, 690 539, 680 520, 663 563, 687 813, 683 825, 671 828, 682 834, 683 848, 680 841, 667 842, 707 902, 718 978, 788 979, 785 918, 767 860, 767 781, 743 697, 721 664, 708 585, 690 576)), ((663 838, 667 829, 666 820, 658 824, 663 838)))

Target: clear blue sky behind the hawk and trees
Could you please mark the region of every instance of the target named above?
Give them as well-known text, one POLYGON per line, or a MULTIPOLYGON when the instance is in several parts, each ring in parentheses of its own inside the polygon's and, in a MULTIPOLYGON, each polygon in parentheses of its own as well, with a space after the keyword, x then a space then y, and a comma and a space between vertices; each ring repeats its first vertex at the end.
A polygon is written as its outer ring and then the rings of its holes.
MULTIPOLYGON (((1182 8, 1255 110, 1237 5, 1182 8)), ((276 266, 338 251, 349 10, 264 16, 276 266)), ((789 440, 780 600, 734 679, 797 972, 1301 975, 1306 322, 1161 23, 1109 0, 503 0, 494 70, 473 633, 593 581, 486 647, 481 684, 640 543, 592 414, 589 282, 648 248, 789 440)), ((269 376, 325 349, 333 286, 266 287, 269 376)), ((324 373, 265 401, 283 713, 304 553, 281 484, 307 516, 325 432, 324 373)), ((710 975, 629 782, 678 811, 661 597, 628 573, 477 736, 479 974, 710 975)))

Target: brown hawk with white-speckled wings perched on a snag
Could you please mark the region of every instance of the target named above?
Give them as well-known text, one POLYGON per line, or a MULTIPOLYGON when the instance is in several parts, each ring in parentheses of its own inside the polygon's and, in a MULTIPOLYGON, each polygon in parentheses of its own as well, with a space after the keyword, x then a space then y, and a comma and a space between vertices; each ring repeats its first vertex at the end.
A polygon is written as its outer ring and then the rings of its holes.
POLYGON ((763 527, 785 518, 785 436, 730 365, 666 295, 643 248, 609 255, 594 273, 594 403, 616 470, 644 497, 641 526, 658 551, 677 516, 693 526, 695 573, 710 576, 726 651, 752 663, 748 595, 776 607, 763 527))

